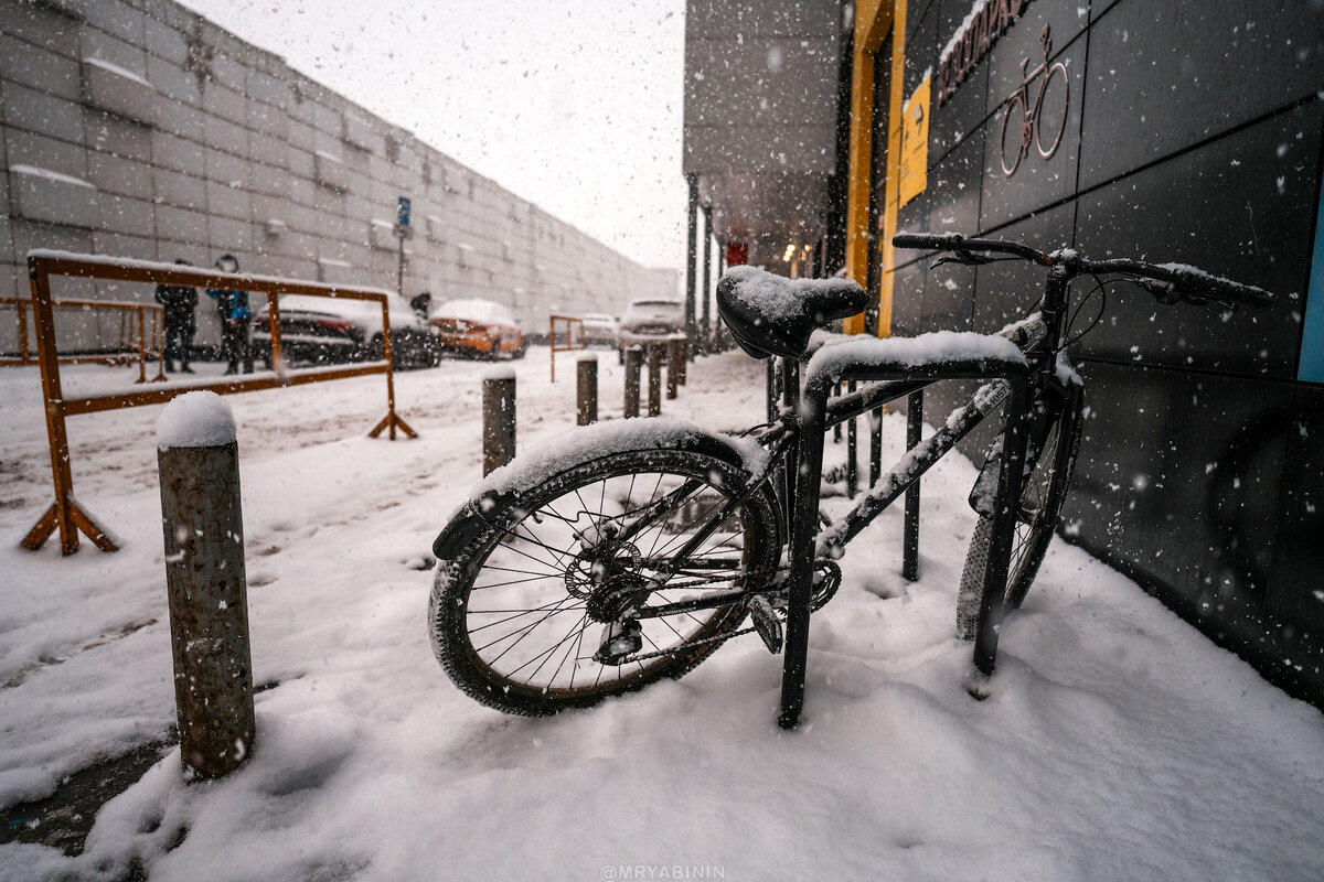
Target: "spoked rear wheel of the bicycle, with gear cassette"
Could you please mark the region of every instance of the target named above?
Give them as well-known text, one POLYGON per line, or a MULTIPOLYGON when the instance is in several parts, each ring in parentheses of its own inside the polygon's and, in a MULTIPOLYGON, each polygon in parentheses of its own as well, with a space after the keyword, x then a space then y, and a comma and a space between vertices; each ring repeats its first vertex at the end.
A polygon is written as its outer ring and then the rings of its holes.
POLYGON ((687 673, 744 619, 743 590, 776 570, 771 495, 759 489, 726 510, 749 481, 741 465, 694 450, 614 452, 469 514, 475 536, 433 587, 437 659, 470 697, 524 715, 687 673), (651 615, 722 591, 735 599, 651 615))

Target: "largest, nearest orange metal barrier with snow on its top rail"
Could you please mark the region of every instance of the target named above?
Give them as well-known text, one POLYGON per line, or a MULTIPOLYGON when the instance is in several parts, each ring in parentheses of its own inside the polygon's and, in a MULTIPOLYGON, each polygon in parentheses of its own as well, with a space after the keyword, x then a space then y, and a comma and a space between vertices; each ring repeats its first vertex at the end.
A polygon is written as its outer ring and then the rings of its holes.
MULTIPOLYGON (((65 418, 77 414, 93 414, 120 407, 160 405, 175 395, 195 389, 207 389, 221 395, 240 391, 257 391, 279 386, 298 386, 326 380, 343 380, 363 374, 387 376, 387 415, 381 418, 369 436, 376 438, 384 430, 395 439, 396 430, 416 438, 417 432, 396 414, 395 372, 391 366, 391 316, 388 298, 381 288, 357 288, 331 286, 298 279, 274 276, 237 275, 203 270, 173 263, 150 263, 106 258, 90 254, 68 254, 64 251, 36 250, 28 253, 28 278, 32 283, 32 300, 36 336, 37 361, 41 365, 41 391, 46 410, 46 435, 50 442, 50 469, 56 485, 56 501, 46 509, 41 520, 24 538, 28 549, 40 549, 45 541, 60 530, 60 547, 65 554, 78 550, 78 533, 83 533, 103 551, 117 550, 115 543, 74 501, 73 472, 69 459, 69 434, 65 418), (50 296, 50 276, 71 276, 78 279, 106 279, 115 282, 142 282, 147 284, 183 284, 189 287, 232 288, 266 295, 267 316, 271 328, 271 361, 278 370, 271 374, 254 376, 248 380, 225 380, 199 382, 188 386, 148 389, 142 391, 87 395, 65 398, 60 383, 60 362, 57 354, 54 305, 50 296), (342 300, 367 300, 381 304, 381 331, 384 340, 384 361, 346 365, 334 369, 291 372, 279 369, 283 364, 281 346, 279 298, 282 294, 306 296, 338 298, 342 300)), ((58 303, 69 303, 68 300, 58 303)))

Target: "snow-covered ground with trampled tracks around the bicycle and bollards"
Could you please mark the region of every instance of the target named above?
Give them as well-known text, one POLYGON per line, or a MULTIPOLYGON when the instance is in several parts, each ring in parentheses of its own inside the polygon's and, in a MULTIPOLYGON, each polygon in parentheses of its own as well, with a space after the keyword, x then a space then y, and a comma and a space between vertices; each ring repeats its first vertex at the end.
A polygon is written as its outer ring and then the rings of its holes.
MULTIPOLYGON (((516 364, 519 446, 573 423, 573 360, 516 364)), ((214 369, 214 365, 204 365, 214 369)), ((177 750, 77 858, 0 846, 0 878, 1317 879, 1324 718, 1125 578, 1057 543, 1002 632, 990 697, 953 632, 974 471, 925 479, 922 579, 900 514, 849 549, 810 636, 800 730, 756 637, 678 682, 551 719, 475 705, 432 657, 430 543, 479 477, 489 368, 399 374, 416 440, 371 440, 381 377, 233 395, 258 735, 228 779, 177 750)), ((601 358, 602 411, 621 374, 601 358)), ((70 368, 70 397, 132 374, 70 368)), ((760 419, 761 365, 700 360, 667 415, 760 419)), ((156 485, 160 407, 70 419, 82 505, 120 541, 19 541, 50 504, 34 370, 0 373, 0 807, 175 722, 156 485)), ((899 454, 904 421, 888 417, 899 454)), ((841 456, 841 448, 834 448, 841 456)), ((833 500, 839 506, 841 500, 833 500)))

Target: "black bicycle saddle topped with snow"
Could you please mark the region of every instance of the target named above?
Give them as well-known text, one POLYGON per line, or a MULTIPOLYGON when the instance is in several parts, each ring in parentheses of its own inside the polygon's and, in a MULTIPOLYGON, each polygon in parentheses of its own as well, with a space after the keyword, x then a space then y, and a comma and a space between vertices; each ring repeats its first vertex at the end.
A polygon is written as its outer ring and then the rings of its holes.
POLYGON ((851 279, 788 279, 735 266, 718 282, 718 312, 755 358, 802 358, 816 328, 863 312, 866 303, 851 279))

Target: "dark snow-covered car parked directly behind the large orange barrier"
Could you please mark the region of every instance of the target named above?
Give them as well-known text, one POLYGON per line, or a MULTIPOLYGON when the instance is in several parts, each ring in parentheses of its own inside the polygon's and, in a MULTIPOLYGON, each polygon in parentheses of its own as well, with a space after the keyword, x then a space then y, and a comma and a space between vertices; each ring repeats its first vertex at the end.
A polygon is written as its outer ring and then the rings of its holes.
MULTIPOLYGON (((391 356, 396 369, 430 368, 441 357, 441 335, 404 300, 387 298, 391 356)), ((271 366, 266 313, 253 323, 253 348, 271 366)), ((281 350, 286 364, 336 365, 385 357, 381 307, 368 300, 290 295, 281 298, 281 350)))

